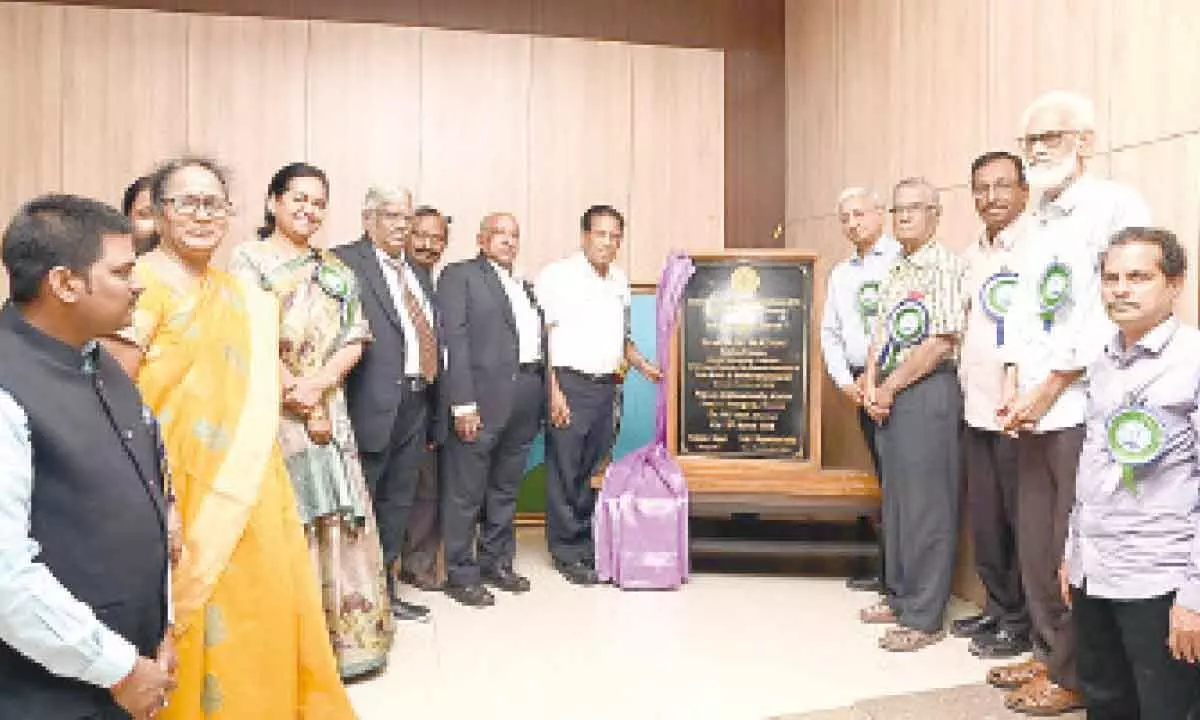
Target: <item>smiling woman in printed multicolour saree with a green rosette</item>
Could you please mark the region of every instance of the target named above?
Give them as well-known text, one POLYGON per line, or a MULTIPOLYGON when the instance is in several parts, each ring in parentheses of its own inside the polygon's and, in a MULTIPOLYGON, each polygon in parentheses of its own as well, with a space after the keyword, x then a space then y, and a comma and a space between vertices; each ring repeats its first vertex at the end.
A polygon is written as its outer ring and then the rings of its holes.
POLYGON ((354 272, 310 245, 325 218, 325 174, 289 164, 266 194, 262 241, 235 247, 229 271, 280 300, 280 448, 348 679, 383 667, 392 637, 383 551, 342 392, 371 332, 354 272))

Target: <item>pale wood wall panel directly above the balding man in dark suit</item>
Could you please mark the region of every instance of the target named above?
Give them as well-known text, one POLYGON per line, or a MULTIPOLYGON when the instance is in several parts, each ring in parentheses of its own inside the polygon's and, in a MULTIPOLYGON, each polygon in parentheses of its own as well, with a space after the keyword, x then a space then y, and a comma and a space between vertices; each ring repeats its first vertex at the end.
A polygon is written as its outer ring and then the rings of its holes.
POLYGON ((421 168, 418 197, 455 218, 446 260, 475 254, 479 221, 529 215, 529 37, 428 30, 421 42, 421 168), (468 238, 470 240, 468 240, 468 238))

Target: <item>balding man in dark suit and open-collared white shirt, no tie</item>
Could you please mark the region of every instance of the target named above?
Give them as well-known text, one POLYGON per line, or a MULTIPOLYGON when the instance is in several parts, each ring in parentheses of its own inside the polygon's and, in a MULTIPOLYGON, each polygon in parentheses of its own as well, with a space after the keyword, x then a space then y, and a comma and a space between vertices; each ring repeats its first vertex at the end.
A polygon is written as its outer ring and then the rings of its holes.
POLYGON ((446 347, 442 402, 452 427, 442 466, 446 594, 464 605, 496 602, 484 583, 529 589, 512 569, 517 488, 545 413, 541 311, 512 276, 521 229, 509 214, 479 228, 478 257, 446 266, 438 306, 446 347), (475 526, 479 523, 479 541, 475 526), (473 547, 475 546, 475 547, 473 547))

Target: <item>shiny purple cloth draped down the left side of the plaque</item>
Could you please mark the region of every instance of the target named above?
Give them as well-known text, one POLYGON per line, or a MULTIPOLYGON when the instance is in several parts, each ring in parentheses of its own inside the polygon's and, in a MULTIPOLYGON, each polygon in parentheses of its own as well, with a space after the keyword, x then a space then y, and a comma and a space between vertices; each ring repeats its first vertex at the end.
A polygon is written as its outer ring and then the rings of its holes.
MULTIPOLYGON (((691 258, 673 252, 659 281, 655 307, 659 364, 670 362, 671 335, 691 258)), ((655 391, 654 442, 614 461, 605 472, 593 532, 596 574, 622 588, 670 589, 688 580, 688 482, 666 449, 667 384, 655 391)))

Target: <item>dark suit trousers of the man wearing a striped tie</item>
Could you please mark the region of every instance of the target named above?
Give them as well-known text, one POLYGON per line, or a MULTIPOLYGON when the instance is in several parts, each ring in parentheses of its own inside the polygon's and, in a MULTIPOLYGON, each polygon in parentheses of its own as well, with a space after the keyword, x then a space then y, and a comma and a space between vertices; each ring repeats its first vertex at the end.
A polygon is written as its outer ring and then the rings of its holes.
POLYGON ((425 462, 427 424, 425 391, 406 392, 388 446, 379 452, 360 452, 389 578, 398 570, 396 564, 404 548, 408 515, 416 494, 416 474, 425 462))

